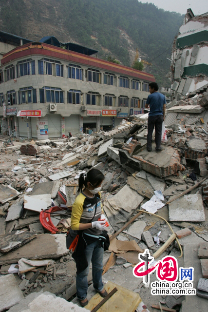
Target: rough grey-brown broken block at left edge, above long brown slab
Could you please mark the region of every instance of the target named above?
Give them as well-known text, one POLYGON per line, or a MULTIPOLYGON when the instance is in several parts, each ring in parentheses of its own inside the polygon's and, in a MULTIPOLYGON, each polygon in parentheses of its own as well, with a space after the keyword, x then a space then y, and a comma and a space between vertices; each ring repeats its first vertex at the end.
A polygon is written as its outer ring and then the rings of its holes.
POLYGON ((27 244, 34 238, 36 238, 36 234, 27 231, 24 231, 23 233, 21 231, 17 231, 0 236, 0 252, 8 253, 11 250, 27 244))

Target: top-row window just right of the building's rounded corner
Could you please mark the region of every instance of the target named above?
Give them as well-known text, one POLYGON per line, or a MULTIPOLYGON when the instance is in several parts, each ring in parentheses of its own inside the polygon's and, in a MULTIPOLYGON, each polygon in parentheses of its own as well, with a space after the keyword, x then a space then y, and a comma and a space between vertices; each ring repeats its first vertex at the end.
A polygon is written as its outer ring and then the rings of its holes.
POLYGON ((38 60, 38 74, 63 77, 63 65, 61 65, 59 60, 38 60))

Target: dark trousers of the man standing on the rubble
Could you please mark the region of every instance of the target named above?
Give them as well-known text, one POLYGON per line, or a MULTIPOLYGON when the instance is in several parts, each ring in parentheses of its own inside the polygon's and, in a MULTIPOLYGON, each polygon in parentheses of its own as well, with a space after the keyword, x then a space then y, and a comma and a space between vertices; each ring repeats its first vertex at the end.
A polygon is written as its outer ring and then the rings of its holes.
POLYGON ((149 116, 148 117, 148 134, 147 134, 147 149, 151 151, 152 133, 155 128, 155 144, 156 150, 160 150, 161 135, 162 135, 163 115, 149 116))

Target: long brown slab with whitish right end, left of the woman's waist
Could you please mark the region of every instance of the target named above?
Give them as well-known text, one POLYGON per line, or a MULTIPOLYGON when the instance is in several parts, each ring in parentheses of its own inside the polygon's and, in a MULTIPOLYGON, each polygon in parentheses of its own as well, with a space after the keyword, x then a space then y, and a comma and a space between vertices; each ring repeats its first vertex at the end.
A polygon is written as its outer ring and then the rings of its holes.
POLYGON ((16 263, 21 258, 56 259, 68 253, 66 234, 38 234, 36 239, 19 247, 13 253, 3 254, 0 257, 0 265, 16 263))

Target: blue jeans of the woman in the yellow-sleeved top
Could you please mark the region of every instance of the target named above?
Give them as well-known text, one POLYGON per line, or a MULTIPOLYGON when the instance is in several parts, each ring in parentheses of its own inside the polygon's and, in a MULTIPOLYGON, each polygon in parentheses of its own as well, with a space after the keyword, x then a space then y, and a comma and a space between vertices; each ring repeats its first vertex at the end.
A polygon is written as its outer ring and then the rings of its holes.
POLYGON ((89 273, 90 261, 93 265, 93 286, 95 291, 101 292, 104 288, 102 282, 103 272, 103 248, 98 247, 100 241, 95 241, 86 246, 85 254, 87 257, 88 267, 76 275, 76 296, 79 300, 87 298, 88 281, 87 275, 89 273))

